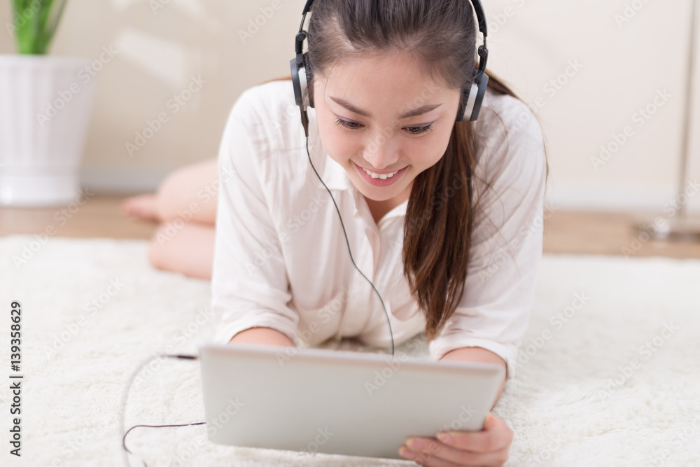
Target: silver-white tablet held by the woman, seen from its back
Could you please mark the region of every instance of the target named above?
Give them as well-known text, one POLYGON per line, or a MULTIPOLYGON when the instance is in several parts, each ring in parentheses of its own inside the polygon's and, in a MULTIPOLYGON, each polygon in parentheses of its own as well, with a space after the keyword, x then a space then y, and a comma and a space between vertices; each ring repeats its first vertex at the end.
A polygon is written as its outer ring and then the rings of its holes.
POLYGON ((209 440, 403 459, 409 435, 479 431, 505 370, 492 363, 259 344, 200 347, 209 440))

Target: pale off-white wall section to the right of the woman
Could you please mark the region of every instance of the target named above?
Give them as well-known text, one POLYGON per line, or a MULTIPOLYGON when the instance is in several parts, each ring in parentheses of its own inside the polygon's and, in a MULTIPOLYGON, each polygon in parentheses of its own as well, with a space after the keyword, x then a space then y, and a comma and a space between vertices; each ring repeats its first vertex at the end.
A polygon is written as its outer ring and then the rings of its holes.
MULTIPOLYGON (((486 1, 491 69, 527 102, 544 99, 537 115, 549 143, 555 204, 659 211, 675 197, 690 6, 689 0, 486 1), (616 19, 631 4, 641 8, 628 21, 616 19), (559 90, 545 88, 570 61, 582 69, 561 76, 566 84, 559 90), (650 118, 640 117, 638 109, 654 110, 659 90, 671 97, 650 118), (603 160, 601 146, 615 149, 618 134, 626 141, 603 160)), ((694 151, 697 159, 697 145, 694 151)))

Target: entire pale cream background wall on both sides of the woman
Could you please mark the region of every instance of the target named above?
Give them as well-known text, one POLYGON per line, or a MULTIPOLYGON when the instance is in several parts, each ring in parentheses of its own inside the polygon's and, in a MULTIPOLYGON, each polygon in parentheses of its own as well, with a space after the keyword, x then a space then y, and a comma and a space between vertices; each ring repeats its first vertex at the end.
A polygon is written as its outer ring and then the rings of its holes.
MULTIPOLYGON (((237 96, 289 72, 305 0, 280 1, 274 10, 273 0, 70 0, 52 53, 94 59, 104 46, 118 50, 98 75, 83 183, 153 190, 172 169, 215 157, 237 96), (165 5, 153 11, 158 2, 165 5), (239 30, 260 8, 272 17, 244 43, 239 30), (193 75, 207 83, 172 113, 168 100, 193 75), (125 145, 163 111, 169 122, 130 155, 125 145)), ((540 105, 550 201, 561 209, 660 211, 678 186, 691 0, 483 3, 489 69, 533 107, 540 105), (642 8, 618 25, 615 15, 624 14, 626 4, 642 8), (561 75, 571 62, 582 68, 561 75), (566 84, 554 90, 548 83, 558 77, 566 84), (661 90, 670 93, 668 101, 648 120, 638 120, 638 109, 661 90), (591 158, 599 158, 601 145, 614 142, 626 126, 631 137, 608 160, 598 160, 596 170, 591 158)), ((8 10, 0 8, 1 24, 9 20, 8 10)), ((0 53, 12 51, 10 36, 1 32, 0 53)), ((700 90, 694 108, 698 135, 700 90)), ((690 179, 700 179, 700 137, 692 147, 690 179)), ((700 208, 700 196, 690 202, 700 208)))

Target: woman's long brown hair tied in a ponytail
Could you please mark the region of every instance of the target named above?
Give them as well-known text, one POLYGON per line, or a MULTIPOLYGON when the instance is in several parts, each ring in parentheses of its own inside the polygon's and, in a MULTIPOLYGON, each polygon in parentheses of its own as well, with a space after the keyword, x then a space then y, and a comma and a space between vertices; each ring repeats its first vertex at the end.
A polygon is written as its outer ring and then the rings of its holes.
MULTIPOLYGON (((327 76, 336 62, 367 52, 408 51, 424 72, 454 89, 468 88, 476 72, 476 27, 466 0, 316 0, 307 41, 309 93, 314 77, 327 76)), ((491 90, 517 98, 503 81, 486 74, 491 90)), ((455 122, 444 155, 416 176, 409 196, 402 260, 411 293, 426 316, 428 342, 454 314, 464 292, 483 194, 475 195, 472 186, 477 148, 472 123, 455 122)))

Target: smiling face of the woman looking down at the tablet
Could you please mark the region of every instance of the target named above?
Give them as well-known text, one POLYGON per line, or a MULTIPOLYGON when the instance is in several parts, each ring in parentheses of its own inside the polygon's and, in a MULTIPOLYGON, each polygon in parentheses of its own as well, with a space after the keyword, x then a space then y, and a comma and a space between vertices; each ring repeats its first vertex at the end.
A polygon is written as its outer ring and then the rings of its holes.
POLYGON ((323 148, 353 185, 374 201, 407 200, 413 180, 444 154, 461 91, 444 88, 407 54, 336 64, 314 76, 323 148), (372 178, 363 169, 391 178, 372 178))

